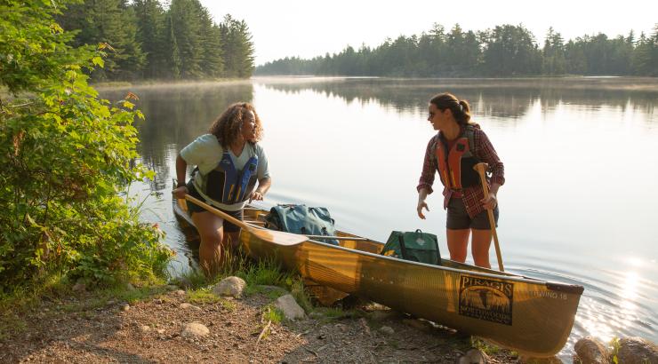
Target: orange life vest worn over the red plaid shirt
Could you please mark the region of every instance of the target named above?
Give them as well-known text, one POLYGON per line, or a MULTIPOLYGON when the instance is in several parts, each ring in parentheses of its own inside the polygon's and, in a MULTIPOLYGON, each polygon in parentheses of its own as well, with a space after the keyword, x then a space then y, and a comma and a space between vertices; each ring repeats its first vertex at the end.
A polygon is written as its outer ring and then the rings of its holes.
POLYGON ((479 162, 472 152, 475 145, 474 135, 474 128, 467 125, 450 150, 444 140, 441 140, 440 137, 437 138, 435 154, 438 175, 444 186, 460 190, 479 185, 479 175, 476 170, 473 170, 473 166, 479 162))

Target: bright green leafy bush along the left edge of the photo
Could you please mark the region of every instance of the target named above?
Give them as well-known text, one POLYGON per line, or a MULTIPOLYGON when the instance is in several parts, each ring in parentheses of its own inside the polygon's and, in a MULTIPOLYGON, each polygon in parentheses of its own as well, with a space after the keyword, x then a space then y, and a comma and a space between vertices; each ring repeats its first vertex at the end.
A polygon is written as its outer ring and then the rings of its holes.
MULTIPOLYGON (((164 274, 170 250, 162 231, 138 220, 133 181, 152 177, 136 165, 140 111, 110 105, 88 85, 107 45, 68 45, 52 19, 55 2, 0 5, 0 85, 30 99, 0 99, 0 291, 63 272, 112 284, 164 274)), ((107 62, 106 62, 107 65, 107 62)))

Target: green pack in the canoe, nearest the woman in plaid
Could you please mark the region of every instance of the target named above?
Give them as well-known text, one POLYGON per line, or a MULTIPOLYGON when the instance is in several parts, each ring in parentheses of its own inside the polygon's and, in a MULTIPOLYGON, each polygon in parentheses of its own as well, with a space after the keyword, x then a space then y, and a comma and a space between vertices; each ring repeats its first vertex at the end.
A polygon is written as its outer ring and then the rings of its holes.
POLYGON ((437 235, 423 233, 421 229, 416 229, 415 232, 390 233, 381 255, 429 265, 441 265, 437 235))

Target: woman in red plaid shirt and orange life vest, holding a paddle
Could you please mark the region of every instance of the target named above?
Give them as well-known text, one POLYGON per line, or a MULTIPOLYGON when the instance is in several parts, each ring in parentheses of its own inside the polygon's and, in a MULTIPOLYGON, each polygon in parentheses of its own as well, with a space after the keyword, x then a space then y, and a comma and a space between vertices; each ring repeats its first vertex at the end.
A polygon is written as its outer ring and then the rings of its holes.
POLYGON ((429 139, 422 164, 417 187, 418 216, 424 219, 422 209, 429 211, 425 199, 432 193, 438 170, 444 184, 444 210, 448 210, 445 227, 450 258, 457 262, 466 260, 469 235, 472 233, 471 252, 475 264, 491 268, 489 246, 492 233, 486 209, 494 209, 497 224, 496 194, 505 183, 502 162, 485 132, 477 123, 470 121, 470 107, 466 100, 457 99, 450 93, 438 94, 429 101, 428 121, 438 133, 429 139), (442 158, 445 158, 444 162, 440 161, 442 158), (491 177, 486 178, 488 196, 484 195, 477 172, 472 169, 477 162, 489 165, 491 177))

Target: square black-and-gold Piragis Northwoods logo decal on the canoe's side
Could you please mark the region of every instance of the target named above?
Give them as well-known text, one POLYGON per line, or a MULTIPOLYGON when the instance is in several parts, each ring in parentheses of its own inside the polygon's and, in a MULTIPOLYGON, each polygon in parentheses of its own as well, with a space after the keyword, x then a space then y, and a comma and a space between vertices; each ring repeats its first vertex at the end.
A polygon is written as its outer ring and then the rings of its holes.
POLYGON ((513 293, 513 283, 461 275, 459 314, 511 325, 513 293))

